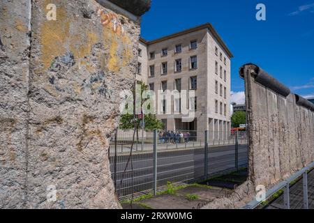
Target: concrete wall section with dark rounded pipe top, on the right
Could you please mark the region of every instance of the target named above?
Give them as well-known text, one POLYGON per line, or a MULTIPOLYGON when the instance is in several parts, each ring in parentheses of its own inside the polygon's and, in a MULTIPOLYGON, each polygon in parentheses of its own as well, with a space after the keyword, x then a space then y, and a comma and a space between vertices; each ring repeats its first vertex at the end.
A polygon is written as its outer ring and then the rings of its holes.
POLYGON ((246 86, 249 180, 270 187, 314 160, 314 109, 298 105, 297 96, 272 77, 260 81, 265 73, 252 64, 240 71, 246 86))

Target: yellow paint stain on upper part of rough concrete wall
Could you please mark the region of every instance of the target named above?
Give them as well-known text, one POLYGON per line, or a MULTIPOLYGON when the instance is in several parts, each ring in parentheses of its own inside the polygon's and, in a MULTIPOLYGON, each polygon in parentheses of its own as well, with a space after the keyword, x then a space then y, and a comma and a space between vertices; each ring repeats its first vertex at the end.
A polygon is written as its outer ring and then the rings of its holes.
MULTIPOLYGON (((45 13, 48 12, 45 8, 47 3, 50 2, 45 0, 45 3, 41 6, 45 13)), ((133 44, 128 34, 122 33, 121 28, 114 31, 112 23, 103 26, 99 19, 98 25, 103 28, 103 33, 100 33, 100 35, 89 29, 87 24, 82 24, 82 28, 77 33, 70 33, 71 26, 79 25, 79 18, 68 14, 65 3, 59 1, 59 4, 57 4, 57 21, 45 20, 43 26, 41 26, 42 71, 50 68, 55 57, 62 56, 70 51, 73 53, 75 63, 79 67, 85 65, 89 72, 95 72, 95 68, 89 65, 89 61, 86 61, 85 56, 89 56, 91 47, 96 43, 103 43, 105 48, 109 49, 109 55, 105 54, 99 58, 102 68, 107 68, 111 72, 119 72, 122 67, 130 63, 133 58, 133 44), (121 45, 122 47, 120 47, 121 45)), ((72 30, 75 32, 75 29, 72 30)))

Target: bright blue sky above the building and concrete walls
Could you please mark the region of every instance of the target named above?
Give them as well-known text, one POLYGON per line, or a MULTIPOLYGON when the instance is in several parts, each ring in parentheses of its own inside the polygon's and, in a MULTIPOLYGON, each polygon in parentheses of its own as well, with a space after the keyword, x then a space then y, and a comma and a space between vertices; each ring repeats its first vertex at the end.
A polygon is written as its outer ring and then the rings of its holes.
POLYGON ((142 37, 152 40, 206 22, 234 54, 234 98, 243 98, 238 70, 248 62, 295 93, 314 97, 314 0, 152 0, 142 17, 142 37), (266 6, 266 21, 255 19, 257 3, 266 6))

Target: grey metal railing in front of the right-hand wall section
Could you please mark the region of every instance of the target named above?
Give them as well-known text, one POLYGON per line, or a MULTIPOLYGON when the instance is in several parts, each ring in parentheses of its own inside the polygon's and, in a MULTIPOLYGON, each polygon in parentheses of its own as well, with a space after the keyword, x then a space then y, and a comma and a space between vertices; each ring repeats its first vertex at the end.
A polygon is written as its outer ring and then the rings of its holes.
MULTIPOLYGON (((270 190, 267 191, 264 201, 271 199, 271 197, 273 197, 276 192, 283 190, 283 208, 290 209, 290 185, 292 182, 301 177, 303 187, 303 208, 308 209, 308 171, 311 171, 313 168, 314 162, 309 164, 304 169, 297 171, 297 173, 293 174, 290 178, 287 178, 287 180, 284 180, 275 187, 272 187, 270 190)), ((243 209, 255 209, 257 208, 257 206, 260 206, 264 201, 257 201, 256 199, 254 199, 246 206, 244 206, 243 209)))

